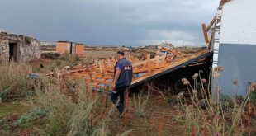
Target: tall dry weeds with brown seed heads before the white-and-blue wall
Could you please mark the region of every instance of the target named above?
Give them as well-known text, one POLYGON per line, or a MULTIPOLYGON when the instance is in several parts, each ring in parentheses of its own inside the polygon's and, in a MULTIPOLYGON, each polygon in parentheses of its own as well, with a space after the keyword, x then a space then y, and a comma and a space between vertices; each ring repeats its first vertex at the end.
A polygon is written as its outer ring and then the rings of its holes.
MULTIPOLYGON (((213 82, 217 83, 223 69, 216 68, 213 73, 213 82)), ((192 76, 193 83, 183 78, 183 84, 187 87, 189 99, 183 94, 178 95, 180 102, 180 115, 183 115, 183 124, 187 128, 187 134, 191 135, 243 135, 245 134, 245 107, 249 101, 250 87, 247 95, 237 103, 237 98, 227 102, 220 99, 220 90, 216 86, 215 96, 211 96, 206 79, 201 79, 200 73, 192 76), (197 86, 197 82, 201 87, 197 86), (208 89, 207 89, 208 88, 208 89), (199 97, 199 92, 201 96, 199 97)), ((236 83, 234 82, 234 86, 236 83)), ((234 92, 230 92, 234 93, 234 92)), ((229 100, 229 99, 227 99, 229 100)))

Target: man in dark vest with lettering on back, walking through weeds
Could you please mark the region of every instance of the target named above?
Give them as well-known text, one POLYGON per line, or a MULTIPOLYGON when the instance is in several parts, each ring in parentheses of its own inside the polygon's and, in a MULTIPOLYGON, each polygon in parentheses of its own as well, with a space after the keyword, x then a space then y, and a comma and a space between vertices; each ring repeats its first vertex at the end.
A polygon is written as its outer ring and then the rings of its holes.
POLYGON ((122 117, 122 113, 125 105, 125 91, 130 87, 132 80, 132 65, 130 61, 125 58, 125 53, 118 51, 116 54, 118 62, 116 62, 114 69, 114 80, 112 84, 111 101, 116 105, 118 96, 120 101, 116 108, 119 110, 119 117, 122 117))

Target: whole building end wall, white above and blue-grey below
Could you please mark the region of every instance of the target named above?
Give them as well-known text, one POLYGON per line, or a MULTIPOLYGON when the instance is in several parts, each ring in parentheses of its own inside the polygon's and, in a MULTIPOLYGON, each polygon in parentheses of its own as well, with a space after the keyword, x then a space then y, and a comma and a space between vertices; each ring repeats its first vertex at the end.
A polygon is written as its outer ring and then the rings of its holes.
POLYGON ((212 68, 221 66, 212 94, 234 96, 232 81, 238 81, 236 95, 245 95, 256 82, 256 0, 232 0, 218 8, 215 24, 212 68))

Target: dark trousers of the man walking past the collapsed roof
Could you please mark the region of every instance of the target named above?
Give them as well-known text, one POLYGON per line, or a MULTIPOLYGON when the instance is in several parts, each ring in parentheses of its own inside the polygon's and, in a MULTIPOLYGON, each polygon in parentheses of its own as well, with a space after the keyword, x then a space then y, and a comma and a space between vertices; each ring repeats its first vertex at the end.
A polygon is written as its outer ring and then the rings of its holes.
POLYGON ((119 115, 122 114, 125 105, 125 92, 128 87, 116 87, 115 91, 111 93, 111 101, 116 105, 118 100, 118 96, 120 97, 120 101, 116 108, 119 110, 119 115))

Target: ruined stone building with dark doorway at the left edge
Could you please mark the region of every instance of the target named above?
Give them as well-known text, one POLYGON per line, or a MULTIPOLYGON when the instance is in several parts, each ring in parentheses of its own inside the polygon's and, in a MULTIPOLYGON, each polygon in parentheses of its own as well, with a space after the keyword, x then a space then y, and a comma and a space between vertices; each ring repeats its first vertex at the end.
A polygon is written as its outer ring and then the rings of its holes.
POLYGON ((31 61, 40 59, 40 42, 35 38, 0 31, 0 60, 31 61))

